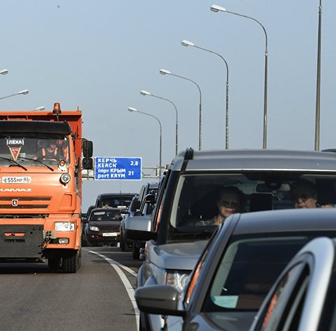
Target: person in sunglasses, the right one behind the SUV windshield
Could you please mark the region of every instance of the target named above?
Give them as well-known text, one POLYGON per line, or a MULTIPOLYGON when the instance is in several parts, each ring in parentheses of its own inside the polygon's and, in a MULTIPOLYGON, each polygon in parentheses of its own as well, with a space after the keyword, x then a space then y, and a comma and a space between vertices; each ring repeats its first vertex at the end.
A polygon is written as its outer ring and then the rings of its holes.
POLYGON ((317 189, 313 182, 310 180, 297 180, 293 182, 292 187, 292 200, 294 208, 333 208, 330 203, 326 205, 319 205, 317 203, 317 189))

